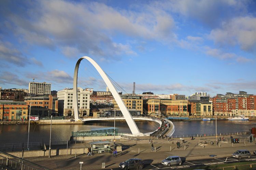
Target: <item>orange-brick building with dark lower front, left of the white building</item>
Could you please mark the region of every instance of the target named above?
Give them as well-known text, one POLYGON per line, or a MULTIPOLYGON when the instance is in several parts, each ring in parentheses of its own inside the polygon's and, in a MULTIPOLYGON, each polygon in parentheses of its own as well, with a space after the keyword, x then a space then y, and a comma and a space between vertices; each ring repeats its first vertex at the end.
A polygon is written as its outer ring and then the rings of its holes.
POLYGON ((58 98, 52 95, 27 96, 24 98, 31 115, 47 117, 58 114, 58 98))

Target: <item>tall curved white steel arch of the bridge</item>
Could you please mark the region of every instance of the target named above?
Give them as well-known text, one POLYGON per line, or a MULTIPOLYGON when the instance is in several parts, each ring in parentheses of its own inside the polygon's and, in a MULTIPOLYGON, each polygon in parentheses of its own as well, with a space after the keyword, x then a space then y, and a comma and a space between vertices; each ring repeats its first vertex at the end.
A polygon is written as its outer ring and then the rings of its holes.
POLYGON ((77 74, 78 74, 78 68, 80 65, 80 62, 86 59, 88 60, 95 68, 96 70, 99 72, 100 76, 102 77, 102 79, 104 80, 104 82, 106 83, 106 85, 109 87, 109 90, 111 91, 114 99, 116 100, 117 105, 119 106, 121 112, 124 115, 124 118, 131 130, 132 134, 142 134, 140 133, 140 130, 138 129, 136 123, 134 122, 133 118, 131 117, 128 109, 126 108, 123 100, 120 98, 118 92, 116 91, 115 87, 113 86, 113 84, 110 82, 109 78, 107 77, 107 75, 105 74, 105 72, 100 68, 100 66, 90 57, 87 56, 83 56, 81 58, 79 58, 79 60, 77 61, 76 65, 75 65, 75 71, 74 71, 74 81, 73 81, 73 106, 74 106, 74 115, 75 115, 75 120, 79 120, 79 111, 78 111, 78 107, 77 107, 77 74))

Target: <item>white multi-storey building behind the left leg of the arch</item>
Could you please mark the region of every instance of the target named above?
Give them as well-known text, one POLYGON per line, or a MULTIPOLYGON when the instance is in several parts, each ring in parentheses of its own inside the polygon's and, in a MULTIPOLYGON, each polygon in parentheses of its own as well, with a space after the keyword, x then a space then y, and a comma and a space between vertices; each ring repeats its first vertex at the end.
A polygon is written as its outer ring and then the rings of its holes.
MULTIPOLYGON (((65 88, 58 91, 59 113, 64 116, 74 115, 73 88, 65 88)), ((80 116, 89 115, 90 111, 90 91, 77 87, 77 104, 80 116)))

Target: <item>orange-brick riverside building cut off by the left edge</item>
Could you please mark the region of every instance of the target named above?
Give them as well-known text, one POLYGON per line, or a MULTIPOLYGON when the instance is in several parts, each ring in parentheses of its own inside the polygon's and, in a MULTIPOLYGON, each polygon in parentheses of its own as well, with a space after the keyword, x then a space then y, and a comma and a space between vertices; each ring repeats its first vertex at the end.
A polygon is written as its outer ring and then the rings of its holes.
POLYGON ((28 116, 26 102, 0 100, 0 120, 25 120, 28 116))

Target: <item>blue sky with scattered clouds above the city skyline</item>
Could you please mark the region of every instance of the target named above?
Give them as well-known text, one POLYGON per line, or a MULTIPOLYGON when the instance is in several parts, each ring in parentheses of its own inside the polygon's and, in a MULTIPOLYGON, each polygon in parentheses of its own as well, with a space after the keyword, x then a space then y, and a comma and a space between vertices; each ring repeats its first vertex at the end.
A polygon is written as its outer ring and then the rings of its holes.
MULTIPOLYGON (((89 56, 127 93, 256 94, 255 54, 253 0, 0 1, 3 89, 72 88, 89 56)), ((78 77, 106 88, 88 61, 78 77)))

